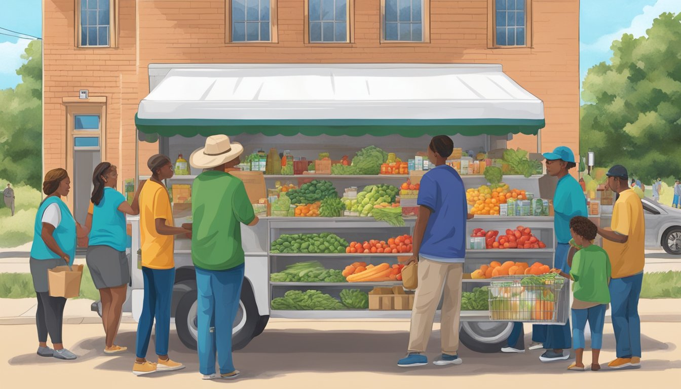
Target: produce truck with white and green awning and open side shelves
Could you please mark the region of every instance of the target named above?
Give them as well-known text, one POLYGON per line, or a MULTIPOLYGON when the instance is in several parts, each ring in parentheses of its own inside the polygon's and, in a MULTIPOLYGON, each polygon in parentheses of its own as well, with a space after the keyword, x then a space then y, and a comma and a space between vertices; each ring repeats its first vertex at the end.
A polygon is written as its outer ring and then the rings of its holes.
MULTIPOLYGON (((502 72, 501 65, 465 64, 240 64, 149 66, 151 93, 140 102, 136 125, 139 140, 159 140, 160 152, 171 159, 189 155, 204 145, 206 136, 227 134, 244 145, 246 152, 257 149, 291 151, 294 157, 316 159, 328 152, 332 160, 351 158, 366 146, 377 146, 396 153, 404 161, 426 151, 430 138, 452 136, 455 147, 465 150, 505 149, 513 134, 532 134, 541 144, 544 127, 543 103, 502 72)), ((245 157, 245 155, 242 157, 245 157)), ((137 164, 144 166, 144 161, 137 164)), ((200 172, 174 176, 173 184, 191 185, 200 172)), ((331 181, 343 188, 407 181, 405 174, 338 176, 300 174, 265 175, 267 188, 281 183, 301 183, 312 179, 331 181)), ((136 177, 148 178, 144 176, 136 177)), ((466 188, 485 185, 481 175, 462 175, 466 188)), ((540 193, 541 175, 505 176, 511 187, 535 196, 540 193)), ((248 186, 248 184, 247 184, 248 186)), ((174 204, 176 225, 191 222, 191 206, 174 204)), ((139 222, 133 223, 131 248, 131 311, 135 320, 142 309, 143 281, 139 266, 139 222)), ((319 290, 338 297, 341 290, 395 287, 394 282, 288 283, 271 282, 270 274, 296 262, 317 260, 326 268, 343 269, 355 261, 367 264, 396 264, 398 255, 409 254, 284 254, 272 253, 270 243, 282 234, 330 232, 348 242, 388 240, 411 234, 415 218, 405 218, 405 226, 392 227, 372 217, 262 217, 253 226, 242 226, 246 253, 245 279, 238 314, 234 321, 234 349, 247 345, 272 318, 297 319, 407 319, 407 309, 345 309, 340 311, 283 311, 270 308, 274 298, 289 290, 319 290)), ((545 249, 468 250, 464 272, 472 273, 481 264, 506 260, 553 263, 554 231, 552 217, 477 216, 467 223, 468 236, 475 228, 505 230, 524 225, 546 244, 545 249)), ((172 316, 178 336, 187 347, 195 348, 196 283, 191 262, 191 240, 176 239, 176 280, 172 316)), ((464 279, 464 292, 489 284, 489 279, 464 279)), ((401 288, 400 288, 401 289, 401 288)), ((392 307, 394 308, 394 307, 392 307)), ((436 320, 438 320, 439 311, 436 320)), ((490 320, 488 311, 462 311, 461 341, 478 352, 496 352, 511 332, 509 322, 490 320)))

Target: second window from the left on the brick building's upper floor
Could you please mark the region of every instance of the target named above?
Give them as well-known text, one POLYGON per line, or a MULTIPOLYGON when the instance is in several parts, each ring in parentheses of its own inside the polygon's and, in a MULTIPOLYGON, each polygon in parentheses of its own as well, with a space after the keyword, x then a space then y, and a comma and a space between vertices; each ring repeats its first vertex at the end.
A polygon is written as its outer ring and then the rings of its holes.
POLYGON ((272 42, 272 0, 231 0, 232 42, 272 42))

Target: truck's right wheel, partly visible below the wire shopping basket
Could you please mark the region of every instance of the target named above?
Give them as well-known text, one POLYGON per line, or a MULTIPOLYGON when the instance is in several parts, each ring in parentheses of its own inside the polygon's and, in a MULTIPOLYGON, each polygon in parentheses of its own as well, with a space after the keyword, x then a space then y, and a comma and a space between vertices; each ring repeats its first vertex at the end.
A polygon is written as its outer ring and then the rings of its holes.
POLYGON ((474 352, 500 352, 511 330, 513 323, 508 322, 462 322, 459 340, 474 352))

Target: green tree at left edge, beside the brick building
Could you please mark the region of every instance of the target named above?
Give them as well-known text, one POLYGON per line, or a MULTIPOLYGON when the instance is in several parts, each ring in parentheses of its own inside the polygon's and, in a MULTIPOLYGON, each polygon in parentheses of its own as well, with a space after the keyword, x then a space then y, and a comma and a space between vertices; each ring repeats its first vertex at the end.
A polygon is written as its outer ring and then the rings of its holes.
MULTIPOLYGON (((0 91, 0 177, 40 189, 42 182, 42 42, 29 43, 22 82, 0 91)), ((6 183, 5 183, 6 185, 6 183)))

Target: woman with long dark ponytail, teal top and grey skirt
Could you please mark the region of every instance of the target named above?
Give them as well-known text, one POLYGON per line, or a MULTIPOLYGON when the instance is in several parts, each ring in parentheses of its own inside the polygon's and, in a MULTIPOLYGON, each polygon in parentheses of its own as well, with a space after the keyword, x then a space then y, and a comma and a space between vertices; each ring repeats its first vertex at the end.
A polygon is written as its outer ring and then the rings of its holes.
POLYGON ((130 266, 125 255, 125 215, 140 214, 139 198, 144 182, 140 183, 131 205, 121 192, 116 191, 116 166, 109 162, 97 165, 92 181, 94 189, 85 221, 85 230, 89 232, 85 258, 101 297, 101 322, 106 334, 104 352, 115 354, 127 350, 127 347, 114 345, 130 282, 130 266))

